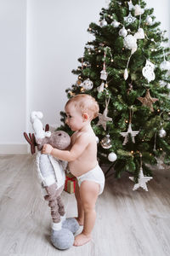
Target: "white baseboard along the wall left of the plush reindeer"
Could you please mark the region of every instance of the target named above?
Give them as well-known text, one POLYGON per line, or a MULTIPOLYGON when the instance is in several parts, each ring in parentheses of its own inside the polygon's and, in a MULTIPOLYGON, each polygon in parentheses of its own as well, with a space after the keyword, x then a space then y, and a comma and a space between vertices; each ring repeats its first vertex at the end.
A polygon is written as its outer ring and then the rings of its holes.
POLYGON ((27 144, 0 144, 0 154, 29 154, 27 144))

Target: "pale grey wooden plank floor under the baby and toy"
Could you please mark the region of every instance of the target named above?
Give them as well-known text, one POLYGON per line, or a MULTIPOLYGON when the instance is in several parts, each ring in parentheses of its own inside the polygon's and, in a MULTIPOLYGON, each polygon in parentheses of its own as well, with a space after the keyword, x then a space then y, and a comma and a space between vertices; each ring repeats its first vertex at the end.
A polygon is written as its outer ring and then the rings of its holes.
MULTIPOLYGON (((133 191, 127 175, 111 178, 99 196, 93 240, 66 251, 49 241, 50 213, 31 155, 0 156, 0 255, 170 255, 170 172, 157 170, 149 192, 133 191)), ((68 217, 77 215, 74 195, 63 192, 68 217)))

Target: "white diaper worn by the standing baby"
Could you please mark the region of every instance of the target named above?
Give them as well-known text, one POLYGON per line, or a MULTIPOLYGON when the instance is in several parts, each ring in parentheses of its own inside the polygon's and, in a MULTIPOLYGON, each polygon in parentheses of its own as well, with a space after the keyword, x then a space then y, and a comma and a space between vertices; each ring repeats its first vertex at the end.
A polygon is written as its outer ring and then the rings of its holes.
POLYGON ((105 175, 99 165, 95 166, 91 171, 88 171, 77 177, 79 187, 84 180, 90 180, 94 183, 99 183, 99 195, 103 192, 105 186, 105 175))

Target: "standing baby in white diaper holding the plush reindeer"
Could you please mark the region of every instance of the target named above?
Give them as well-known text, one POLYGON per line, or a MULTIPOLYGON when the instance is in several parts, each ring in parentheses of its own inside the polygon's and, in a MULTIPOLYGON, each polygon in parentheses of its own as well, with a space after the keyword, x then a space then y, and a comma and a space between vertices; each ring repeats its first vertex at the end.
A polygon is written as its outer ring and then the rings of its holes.
POLYGON ((70 148, 59 150, 45 144, 42 154, 68 161, 71 173, 77 177, 77 221, 83 225, 83 230, 75 237, 74 245, 82 246, 91 239, 96 218, 95 203, 105 185, 105 176, 97 161, 96 137, 91 127, 91 120, 98 116, 99 105, 92 96, 79 94, 65 104, 65 113, 65 123, 75 131, 70 148))

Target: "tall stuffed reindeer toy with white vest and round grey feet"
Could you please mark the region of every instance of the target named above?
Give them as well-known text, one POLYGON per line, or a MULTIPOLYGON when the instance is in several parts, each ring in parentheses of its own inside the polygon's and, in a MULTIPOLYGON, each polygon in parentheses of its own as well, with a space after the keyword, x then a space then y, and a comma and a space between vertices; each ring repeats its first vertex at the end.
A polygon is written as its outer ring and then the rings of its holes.
POLYGON ((45 131, 42 127, 42 113, 33 111, 31 113, 31 124, 34 133, 29 136, 24 132, 26 141, 31 145, 31 154, 36 152, 37 147, 37 172, 40 177, 42 188, 51 208, 53 220, 51 241, 58 249, 68 249, 73 245, 73 234, 79 229, 75 218, 65 218, 65 207, 61 200, 61 192, 65 185, 65 162, 54 158, 52 155, 41 154, 44 144, 50 144, 54 148, 65 149, 71 143, 71 138, 65 131, 50 132, 46 125, 45 131))

